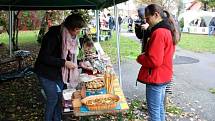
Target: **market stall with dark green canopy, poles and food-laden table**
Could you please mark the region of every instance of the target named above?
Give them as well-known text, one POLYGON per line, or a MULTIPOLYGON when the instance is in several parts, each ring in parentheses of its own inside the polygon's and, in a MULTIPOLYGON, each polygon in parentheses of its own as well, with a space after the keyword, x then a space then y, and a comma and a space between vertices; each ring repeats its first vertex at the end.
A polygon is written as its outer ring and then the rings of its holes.
MULTIPOLYGON (((2 0, 0 1, 1 10, 53 10, 53 9, 102 9, 110 7, 127 0, 2 0)), ((117 10, 116 6, 114 7, 117 10)), ((117 11, 114 11, 116 19, 118 18, 117 11)), ((97 11, 98 14, 98 11, 97 11)), ((13 14, 10 12, 10 25, 13 24, 13 14)), ((118 20, 116 20, 118 21, 118 20)), ((116 22, 118 24, 118 22, 116 22)), ((97 26, 97 32, 99 31, 97 26)), ((119 26, 116 25, 116 30, 119 32, 119 26)), ((12 35, 12 26, 10 26, 10 40, 12 35)), ((99 33, 99 32, 98 32, 99 33)), ((97 38, 98 34, 97 34, 97 38)), ((98 60, 103 64, 100 70, 92 76, 87 74, 86 80, 80 79, 79 89, 68 88, 64 90, 64 112, 74 113, 75 116, 100 115, 104 113, 118 113, 128 109, 128 104, 121 89, 121 70, 120 70, 120 54, 119 54, 119 34, 117 34, 118 48, 118 69, 119 78, 116 76, 108 57, 101 57, 98 60), (99 79, 98 79, 99 78, 99 79), (89 84, 92 83, 92 84, 89 84), (100 83, 100 86, 98 86, 100 83), (87 86, 88 85, 88 86, 87 86), (91 86, 89 86, 91 85, 91 86), (97 87, 95 87, 97 85, 97 87)), ((95 61, 95 62, 98 62, 95 61)), ((96 64, 95 64, 96 65, 96 64)), ((98 67, 98 66, 97 66, 98 67)), ((101 66, 100 66, 101 67, 101 66)), ((81 78, 81 75, 80 75, 81 78)))

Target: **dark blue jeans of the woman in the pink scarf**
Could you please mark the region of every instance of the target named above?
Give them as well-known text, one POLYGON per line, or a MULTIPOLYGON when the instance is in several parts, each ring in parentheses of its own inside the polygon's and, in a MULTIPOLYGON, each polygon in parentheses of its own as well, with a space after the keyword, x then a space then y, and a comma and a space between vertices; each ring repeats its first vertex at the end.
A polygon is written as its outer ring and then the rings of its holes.
POLYGON ((58 91, 57 85, 62 90, 63 82, 61 80, 49 80, 41 76, 38 78, 46 95, 45 121, 61 121, 62 92, 58 91))

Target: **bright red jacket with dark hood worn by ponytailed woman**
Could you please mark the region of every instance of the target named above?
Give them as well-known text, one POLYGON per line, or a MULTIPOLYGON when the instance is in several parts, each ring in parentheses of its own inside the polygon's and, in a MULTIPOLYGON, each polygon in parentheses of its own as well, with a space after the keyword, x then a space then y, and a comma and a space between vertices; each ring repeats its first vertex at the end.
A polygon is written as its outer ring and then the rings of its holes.
POLYGON ((145 54, 137 57, 142 65, 138 81, 145 84, 166 84, 171 81, 173 74, 173 44, 171 31, 167 28, 157 28, 151 37, 145 54))

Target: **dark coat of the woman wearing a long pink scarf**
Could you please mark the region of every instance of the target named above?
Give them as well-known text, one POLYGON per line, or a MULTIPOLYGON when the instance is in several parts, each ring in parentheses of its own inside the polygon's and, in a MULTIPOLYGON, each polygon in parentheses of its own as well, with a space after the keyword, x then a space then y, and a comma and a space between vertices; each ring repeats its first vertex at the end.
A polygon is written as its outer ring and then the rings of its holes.
POLYGON ((49 80, 62 80, 61 67, 65 60, 61 59, 62 37, 61 26, 50 27, 44 35, 34 71, 49 80))

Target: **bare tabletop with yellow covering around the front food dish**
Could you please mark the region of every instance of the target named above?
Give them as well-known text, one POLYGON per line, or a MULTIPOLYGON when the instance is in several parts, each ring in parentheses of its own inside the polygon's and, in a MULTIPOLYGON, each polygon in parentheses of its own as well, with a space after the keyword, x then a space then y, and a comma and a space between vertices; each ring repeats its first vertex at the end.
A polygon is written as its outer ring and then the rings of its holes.
MULTIPOLYGON (((82 106, 80 110, 74 110, 73 114, 78 117, 82 116, 91 116, 91 115, 102 115, 102 114, 108 114, 108 113, 118 113, 121 115, 122 112, 129 109, 126 98, 123 94, 122 89, 119 86, 119 80, 115 79, 113 81, 113 94, 118 95, 120 97, 120 100, 117 104, 117 107, 112 110, 101 110, 101 111, 90 111, 85 106, 82 106)), ((65 113, 69 114, 69 113, 65 113)))

